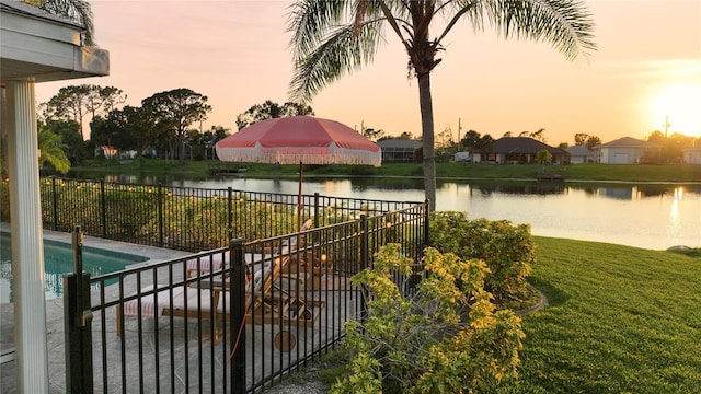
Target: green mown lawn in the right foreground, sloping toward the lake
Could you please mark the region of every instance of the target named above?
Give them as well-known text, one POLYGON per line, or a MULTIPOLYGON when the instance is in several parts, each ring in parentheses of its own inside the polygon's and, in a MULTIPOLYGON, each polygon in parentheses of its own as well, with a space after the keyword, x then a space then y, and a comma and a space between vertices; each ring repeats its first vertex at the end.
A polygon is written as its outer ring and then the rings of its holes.
POLYGON ((701 392, 701 258, 535 240, 519 393, 701 392))

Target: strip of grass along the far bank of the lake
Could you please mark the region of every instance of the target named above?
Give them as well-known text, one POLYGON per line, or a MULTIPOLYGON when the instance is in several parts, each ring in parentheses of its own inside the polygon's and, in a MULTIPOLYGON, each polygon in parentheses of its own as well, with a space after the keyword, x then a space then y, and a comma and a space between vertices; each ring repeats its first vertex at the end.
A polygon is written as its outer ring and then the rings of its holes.
MULTIPOLYGON (((206 176, 207 167, 216 160, 185 161, 184 165, 173 160, 138 159, 130 162, 114 160, 90 160, 72 171, 81 174, 125 174, 154 173, 181 174, 188 176, 206 176)), ((299 165, 281 165, 251 163, 246 164, 245 177, 290 177, 299 172, 299 165)), ((436 175, 441 179, 535 179, 539 165, 490 165, 467 163, 437 163, 436 175)), ((560 170, 561 166, 552 166, 560 170)), ((693 164, 577 164, 564 166, 567 181, 605 181, 605 182, 701 182, 701 165, 693 164)), ((306 177, 422 177, 421 163, 383 163, 380 167, 365 165, 304 165, 306 177)))

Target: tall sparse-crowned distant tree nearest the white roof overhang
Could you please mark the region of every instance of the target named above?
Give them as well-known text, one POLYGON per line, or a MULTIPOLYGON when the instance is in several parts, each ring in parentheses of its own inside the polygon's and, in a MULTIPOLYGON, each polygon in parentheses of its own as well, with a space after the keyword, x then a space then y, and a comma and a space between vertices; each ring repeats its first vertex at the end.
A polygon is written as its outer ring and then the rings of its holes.
POLYGON ((113 86, 99 86, 91 84, 70 85, 59 89, 39 108, 44 111, 45 119, 73 120, 80 125, 80 136, 84 140, 83 119, 85 115, 94 118, 97 115, 106 115, 114 109, 117 104, 126 101, 126 95, 113 86))

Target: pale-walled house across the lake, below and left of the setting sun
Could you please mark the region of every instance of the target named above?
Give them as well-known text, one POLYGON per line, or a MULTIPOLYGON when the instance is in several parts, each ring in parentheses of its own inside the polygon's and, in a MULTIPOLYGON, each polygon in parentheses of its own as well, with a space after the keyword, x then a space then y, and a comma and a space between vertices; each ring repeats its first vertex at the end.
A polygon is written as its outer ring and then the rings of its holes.
POLYGON ((605 164, 659 163, 662 146, 623 137, 594 147, 596 160, 605 164))

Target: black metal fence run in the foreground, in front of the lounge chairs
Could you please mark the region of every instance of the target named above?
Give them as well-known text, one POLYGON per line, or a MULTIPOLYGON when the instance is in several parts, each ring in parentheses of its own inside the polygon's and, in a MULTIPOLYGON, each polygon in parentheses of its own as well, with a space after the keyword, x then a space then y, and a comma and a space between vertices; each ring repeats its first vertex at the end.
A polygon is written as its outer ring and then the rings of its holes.
MULTIPOLYGON (((234 195, 242 196, 228 190, 227 204, 234 195)), ((261 197, 241 198, 290 204, 261 197)), ((366 300, 349 278, 382 245, 400 243, 421 268, 428 207, 372 212, 376 201, 313 199, 314 225, 301 232, 237 239, 95 278, 66 276, 68 392, 263 392, 336 347, 344 323, 365 315, 366 300), (345 220, 323 213, 352 202, 361 209, 344 212, 345 220)), ((80 255, 80 243, 74 247, 80 255)), ((407 292, 413 279, 394 277, 407 292)))

